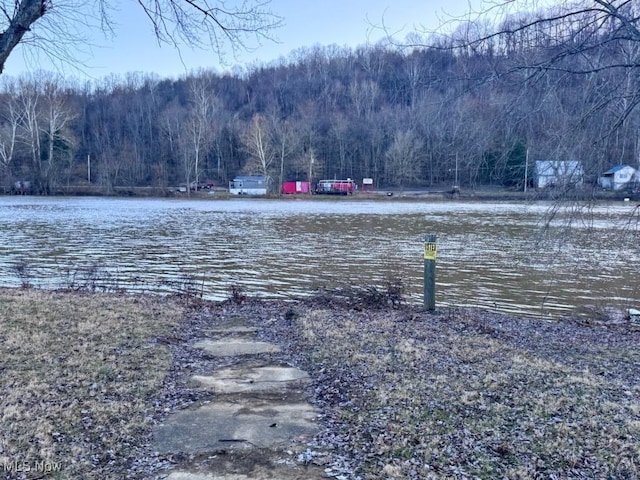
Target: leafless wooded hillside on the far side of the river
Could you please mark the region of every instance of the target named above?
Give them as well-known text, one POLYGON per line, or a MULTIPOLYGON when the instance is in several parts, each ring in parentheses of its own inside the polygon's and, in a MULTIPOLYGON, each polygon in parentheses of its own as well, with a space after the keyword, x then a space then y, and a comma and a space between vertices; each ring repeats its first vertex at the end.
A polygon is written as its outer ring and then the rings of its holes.
POLYGON ((3 77, 1 186, 226 185, 246 173, 521 188, 535 160, 580 160, 595 181, 638 164, 640 82, 629 66, 640 43, 588 26, 510 27, 470 42, 467 25, 464 41, 430 48, 314 47, 180 79, 3 77), (576 48, 579 59, 563 63, 576 48), (554 68, 541 62, 549 55, 554 68))

